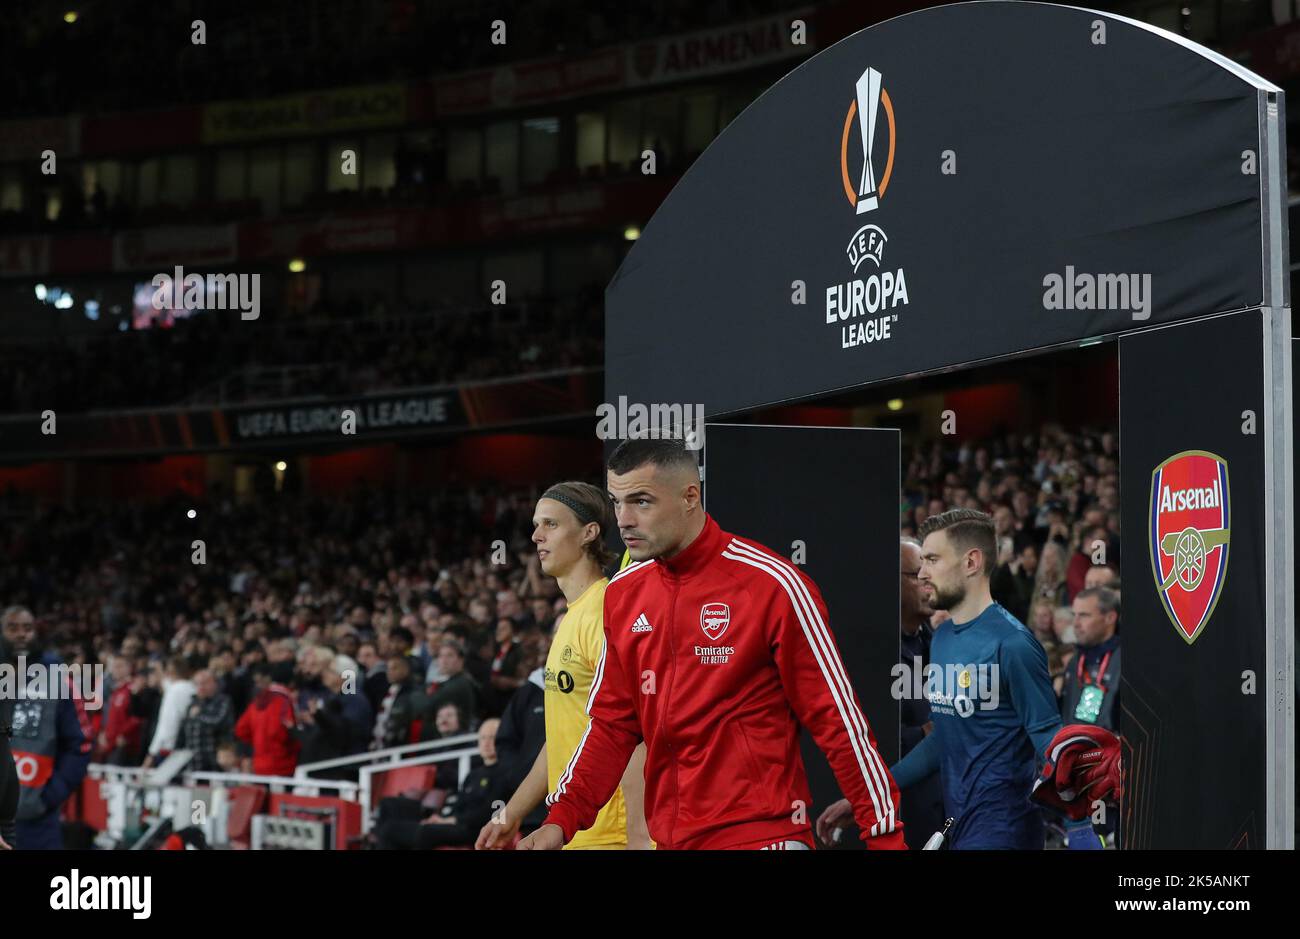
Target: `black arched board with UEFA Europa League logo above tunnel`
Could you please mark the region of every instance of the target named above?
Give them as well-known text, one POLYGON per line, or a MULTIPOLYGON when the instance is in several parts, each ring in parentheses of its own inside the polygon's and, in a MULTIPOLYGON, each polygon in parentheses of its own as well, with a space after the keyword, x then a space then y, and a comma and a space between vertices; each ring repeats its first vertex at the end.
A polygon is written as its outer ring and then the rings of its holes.
POLYGON ((1095 10, 989 0, 862 30, 654 215, 606 294, 606 397, 716 416, 1282 304, 1282 108, 1228 59, 1095 10))

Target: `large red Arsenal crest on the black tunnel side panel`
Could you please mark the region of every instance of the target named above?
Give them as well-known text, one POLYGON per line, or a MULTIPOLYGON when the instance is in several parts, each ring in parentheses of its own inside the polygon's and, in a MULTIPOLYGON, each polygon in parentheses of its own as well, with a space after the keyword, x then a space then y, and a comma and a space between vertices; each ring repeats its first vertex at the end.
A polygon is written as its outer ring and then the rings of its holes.
POLYGON ((1214 614, 1227 576, 1227 460, 1174 454, 1150 475, 1148 548, 1160 602, 1188 644, 1214 614))

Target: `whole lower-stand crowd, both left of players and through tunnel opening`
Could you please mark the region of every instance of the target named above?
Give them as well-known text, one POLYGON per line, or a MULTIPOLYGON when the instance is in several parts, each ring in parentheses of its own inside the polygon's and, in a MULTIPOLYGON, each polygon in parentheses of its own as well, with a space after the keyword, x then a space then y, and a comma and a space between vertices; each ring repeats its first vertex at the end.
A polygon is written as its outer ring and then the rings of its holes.
MULTIPOLYGON (((1115 437, 1048 427, 905 454, 901 532, 950 507, 993 516, 994 597, 1048 652, 1058 693, 1078 641, 1071 601, 1086 587, 1118 590, 1115 437)), ((532 763, 519 740, 536 728, 520 727, 512 701, 541 694, 536 670, 564 611, 529 541, 538 494, 363 488, 237 503, 214 492, 191 520, 179 498, 72 510, 10 492, 0 592, 34 611, 62 661, 105 665, 94 760, 152 763, 186 748, 194 769, 291 775, 477 731, 481 765, 463 799, 381 808, 407 825, 442 819, 443 843, 472 841, 484 793, 504 799, 532 763), (195 538, 205 563, 192 561, 195 538)))

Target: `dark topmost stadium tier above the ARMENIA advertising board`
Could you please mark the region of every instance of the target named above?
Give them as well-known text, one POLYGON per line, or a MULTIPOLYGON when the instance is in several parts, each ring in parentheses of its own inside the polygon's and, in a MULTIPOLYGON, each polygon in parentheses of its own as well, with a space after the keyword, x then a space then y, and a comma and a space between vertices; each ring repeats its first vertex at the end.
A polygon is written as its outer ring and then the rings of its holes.
POLYGON ((0 120, 256 99, 581 55, 800 0, 87 0, 0 5, 0 120), (73 22, 66 21, 75 13, 73 22), (504 43, 488 42, 493 22, 504 43), (203 22, 203 42, 195 22, 203 22), (218 65, 217 65, 218 64, 218 65), (165 75, 165 79, 159 79, 165 75))

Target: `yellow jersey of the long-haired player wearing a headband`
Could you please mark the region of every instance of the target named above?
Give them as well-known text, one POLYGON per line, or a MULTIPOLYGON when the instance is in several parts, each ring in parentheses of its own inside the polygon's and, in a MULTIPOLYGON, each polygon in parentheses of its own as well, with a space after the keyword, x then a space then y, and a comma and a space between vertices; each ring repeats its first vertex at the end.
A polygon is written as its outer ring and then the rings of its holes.
MULTIPOLYGON (((575 600, 551 637, 546 657, 546 782, 555 792, 564 767, 573 757, 590 721, 586 698, 604 648, 604 588, 601 577, 575 600)), ((573 836, 566 848, 627 845, 628 817, 623 789, 614 793, 595 817, 595 823, 573 836)))

